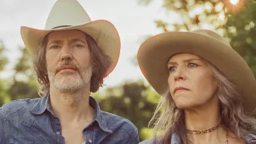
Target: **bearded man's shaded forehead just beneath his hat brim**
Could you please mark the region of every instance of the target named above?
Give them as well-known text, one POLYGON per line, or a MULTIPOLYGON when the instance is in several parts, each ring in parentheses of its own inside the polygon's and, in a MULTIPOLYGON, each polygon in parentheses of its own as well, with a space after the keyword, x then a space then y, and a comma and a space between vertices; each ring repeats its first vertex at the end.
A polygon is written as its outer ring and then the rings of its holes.
POLYGON ((52 31, 48 34, 48 42, 53 40, 64 40, 64 39, 81 39, 86 40, 86 35, 83 31, 76 29, 64 30, 64 31, 52 31))

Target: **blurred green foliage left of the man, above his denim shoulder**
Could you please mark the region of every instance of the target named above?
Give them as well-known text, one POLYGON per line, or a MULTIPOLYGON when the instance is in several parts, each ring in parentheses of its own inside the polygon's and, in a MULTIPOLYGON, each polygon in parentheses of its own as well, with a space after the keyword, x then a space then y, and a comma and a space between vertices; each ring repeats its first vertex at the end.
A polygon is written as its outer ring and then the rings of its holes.
MULTIPOLYGON (((7 57, 5 57, 5 46, 0 43, 0 61, 1 68, 8 64, 7 57), (5 62, 6 61, 6 62, 5 62)), ((14 74, 12 79, 0 80, 0 106, 10 100, 20 98, 38 98, 37 82, 35 72, 32 68, 32 60, 26 48, 18 48, 21 57, 14 66, 14 74)))

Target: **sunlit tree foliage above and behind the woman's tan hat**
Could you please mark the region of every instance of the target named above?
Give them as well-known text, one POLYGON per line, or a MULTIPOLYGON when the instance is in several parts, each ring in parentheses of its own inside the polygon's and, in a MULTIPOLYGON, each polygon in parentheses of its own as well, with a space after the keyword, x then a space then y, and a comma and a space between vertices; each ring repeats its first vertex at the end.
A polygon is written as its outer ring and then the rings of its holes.
MULTIPOLYGON (((139 0, 148 5, 153 0, 139 0)), ((175 12, 177 21, 171 23, 156 20, 156 27, 162 31, 192 31, 210 29, 227 38, 232 48, 237 51, 256 76, 256 2, 240 0, 236 5, 231 1, 216 0, 162 0, 162 8, 175 12)), ((172 18, 173 19, 173 18, 172 18)))

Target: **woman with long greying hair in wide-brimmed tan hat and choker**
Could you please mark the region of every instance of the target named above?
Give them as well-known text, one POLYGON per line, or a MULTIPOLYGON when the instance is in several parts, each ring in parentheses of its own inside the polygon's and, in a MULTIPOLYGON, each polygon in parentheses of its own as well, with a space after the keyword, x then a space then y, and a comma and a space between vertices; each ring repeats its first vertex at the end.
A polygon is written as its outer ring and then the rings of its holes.
POLYGON ((255 77, 221 35, 161 33, 141 44, 138 61, 161 95, 153 138, 141 143, 256 143, 255 77))

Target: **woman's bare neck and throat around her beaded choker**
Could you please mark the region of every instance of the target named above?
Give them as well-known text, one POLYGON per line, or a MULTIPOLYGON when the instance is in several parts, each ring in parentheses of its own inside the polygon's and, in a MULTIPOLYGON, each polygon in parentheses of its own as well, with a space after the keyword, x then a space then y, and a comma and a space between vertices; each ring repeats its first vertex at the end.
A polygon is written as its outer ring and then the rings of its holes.
POLYGON ((218 102, 208 102, 202 106, 184 110, 185 126, 187 130, 208 130, 203 134, 186 133, 187 139, 193 143, 221 143, 226 141, 226 130, 223 126, 214 128, 221 124, 221 113, 218 102))

